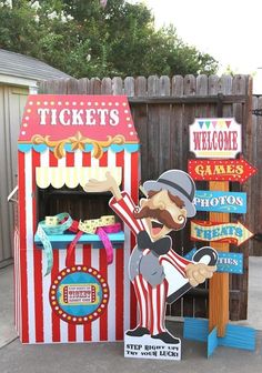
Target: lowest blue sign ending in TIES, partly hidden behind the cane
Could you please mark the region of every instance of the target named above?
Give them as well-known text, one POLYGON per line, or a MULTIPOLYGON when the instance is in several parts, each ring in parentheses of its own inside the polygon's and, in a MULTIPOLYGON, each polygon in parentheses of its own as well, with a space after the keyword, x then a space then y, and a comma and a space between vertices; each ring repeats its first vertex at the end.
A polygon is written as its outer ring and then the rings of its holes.
MULTIPOLYGON (((192 260, 193 254, 196 252, 196 249, 191 250, 184 256, 188 260, 192 260)), ((216 272, 223 273, 243 273, 243 254, 242 253, 228 253, 228 252, 218 252, 219 259, 216 263, 216 272)))

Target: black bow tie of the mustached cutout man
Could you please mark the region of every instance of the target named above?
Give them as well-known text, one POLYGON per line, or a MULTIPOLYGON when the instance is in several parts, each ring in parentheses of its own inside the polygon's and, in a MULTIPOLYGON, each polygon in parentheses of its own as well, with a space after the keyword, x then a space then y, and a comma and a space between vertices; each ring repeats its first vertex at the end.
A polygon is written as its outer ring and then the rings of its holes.
POLYGON ((160 256, 168 253, 171 248, 170 236, 164 236, 158 241, 152 242, 148 232, 142 231, 138 234, 138 246, 140 250, 150 249, 154 255, 160 256))

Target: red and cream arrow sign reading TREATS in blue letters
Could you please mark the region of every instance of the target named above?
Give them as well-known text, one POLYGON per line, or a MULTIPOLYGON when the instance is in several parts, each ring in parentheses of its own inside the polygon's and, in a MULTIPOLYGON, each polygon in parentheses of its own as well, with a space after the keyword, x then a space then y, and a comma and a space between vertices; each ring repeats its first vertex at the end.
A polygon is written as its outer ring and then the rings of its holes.
POLYGON ((214 223, 200 220, 191 221, 192 241, 225 242, 240 246, 251 236, 253 236, 253 233, 240 222, 214 223))

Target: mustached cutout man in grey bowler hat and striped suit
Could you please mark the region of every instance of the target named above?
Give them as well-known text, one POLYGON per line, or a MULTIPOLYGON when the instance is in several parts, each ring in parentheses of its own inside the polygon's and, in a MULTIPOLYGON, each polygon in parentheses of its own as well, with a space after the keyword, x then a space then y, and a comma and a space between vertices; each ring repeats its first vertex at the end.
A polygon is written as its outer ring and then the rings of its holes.
POLYGON ((195 185, 191 177, 180 170, 169 170, 157 181, 145 181, 143 188, 148 198, 140 200, 139 208, 127 192, 120 191, 110 173, 107 173, 104 181, 90 180, 84 190, 111 191, 113 198, 110 206, 137 235, 137 246, 130 256, 129 275, 139 304, 140 321, 127 335, 151 335, 168 344, 179 344, 180 340, 171 335, 164 325, 169 289, 164 264, 173 266, 192 286, 212 278, 215 266, 192 263, 178 255, 171 249, 171 238, 167 235, 173 230, 182 229, 187 218, 195 214, 195 185))

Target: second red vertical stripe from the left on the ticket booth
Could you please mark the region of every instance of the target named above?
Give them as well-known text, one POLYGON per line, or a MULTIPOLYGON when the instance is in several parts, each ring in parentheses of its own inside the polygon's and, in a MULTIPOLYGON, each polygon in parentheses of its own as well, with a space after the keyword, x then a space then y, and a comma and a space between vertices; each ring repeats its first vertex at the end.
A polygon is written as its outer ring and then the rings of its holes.
MULTIPOLYGON (((40 165, 40 153, 32 150, 32 226, 37 231, 36 208, 36 168, 40 165)), ((34 275, 34 317, 36 342, 43 342, 43 301, 42 301, 42 253, 33 245, 33 275, 34 275)))

